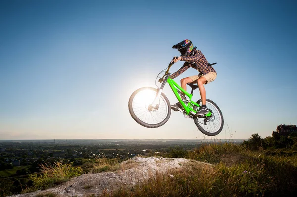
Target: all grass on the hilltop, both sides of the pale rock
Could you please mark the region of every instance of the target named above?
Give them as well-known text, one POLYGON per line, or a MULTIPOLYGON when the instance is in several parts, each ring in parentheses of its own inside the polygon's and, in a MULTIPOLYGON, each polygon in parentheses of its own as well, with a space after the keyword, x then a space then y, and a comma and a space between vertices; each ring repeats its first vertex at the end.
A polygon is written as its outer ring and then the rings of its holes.
MULTIPOLYGON (((96 185, 88 185, 84 190, 86 197, 296 196, 297 151, 293 146, 275 148, 263 143, 263 139, 253 135, 243 144, 205 143, 192 150, 175 147, 167 152, 148 153, 145 157, 185 158, 210 163, 212 167, 189 163, 166 173, 154 172, 133 186, 106 189, 99 195, 87 192, 96 185)), ((45 165, 42 175, 31 176, 34 187, 23 192, 52 187, 82 173, 81 168, 69 164, 57 166, 59 172, 56 167, 45 165)), ((117 173, 123 170, 120 166, 119 159, 97 158, 88 163, 88 173, 117 173)), ((53 192, 34 196, 61 197, 53 192)))

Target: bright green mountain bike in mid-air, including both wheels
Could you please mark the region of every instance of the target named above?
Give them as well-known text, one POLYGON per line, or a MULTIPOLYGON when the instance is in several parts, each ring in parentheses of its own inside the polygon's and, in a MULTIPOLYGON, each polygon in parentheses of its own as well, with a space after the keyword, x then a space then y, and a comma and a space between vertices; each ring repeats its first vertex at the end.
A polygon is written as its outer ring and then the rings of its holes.
POLYGON ((157 128, 164 125, 171 115, 170 102, 162 92, 165 84, 168 83, 182 106, 178 110, 186 118, 192 118, 203 134, 208 136, 219 134, 224 126, 224 118, 220 108, 213 101, 206 99, 209 112, 206 115, 196 116, 195 114, 202 105, 202 101, 199 99, 194 102, 192 101, 192 96, 193 90, 197 89, 198 86, 188 83, 187 85, 192 88, 190 94, 181 88, 181 86, 169 77, 169 69, 173 64, 173 62, 170 62, 162 78, 158 78, 158 76, 166 69, 161 71, 157 76, 158 81, 162 83, 159 88, 142 87, 132 93, 128 103, 130 115, 137 123, 147 128, 157 128), (186 95, 186 99, 182 99, 182 93, 186 95))

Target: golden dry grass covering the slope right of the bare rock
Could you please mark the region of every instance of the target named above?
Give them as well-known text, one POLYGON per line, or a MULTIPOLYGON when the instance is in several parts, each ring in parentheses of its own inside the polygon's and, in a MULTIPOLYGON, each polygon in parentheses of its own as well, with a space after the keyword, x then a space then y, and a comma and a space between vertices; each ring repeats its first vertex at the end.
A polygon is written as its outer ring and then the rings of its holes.
POLYGON ((179 170, 157 172, 132 188, 122 187, 100 197, 296 195, 297 158, 292 155, 267 156, 263 151, 251 152, 224 143, 204 145, 185 156, 216 165, 209 167, 191 162, 179 170))

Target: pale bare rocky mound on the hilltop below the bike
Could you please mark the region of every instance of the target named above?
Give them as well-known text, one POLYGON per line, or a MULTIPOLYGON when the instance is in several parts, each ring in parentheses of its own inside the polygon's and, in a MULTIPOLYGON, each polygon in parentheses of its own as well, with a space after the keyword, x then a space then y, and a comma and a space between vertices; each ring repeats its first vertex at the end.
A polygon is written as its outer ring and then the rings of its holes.
MULTIPOLYGON (((186 164, 211 166, 211 164, 188 160, 184 158, 135 157, 121 163, 121 170, 116 172, 102 172, 98 174, 83 174, 68 182, 43 191, 27 194, 17 194, 10 197, 35 197, 38 194, 54 193, 58 197, 86 197, 99 195, 104 190, 111 191, 121 186, 131 187, 143 180, 151 178, 156 173, 166 173, 171 169, 184 167, 186 164)), ((168 176, 173 176, 168 174, 168 176)))

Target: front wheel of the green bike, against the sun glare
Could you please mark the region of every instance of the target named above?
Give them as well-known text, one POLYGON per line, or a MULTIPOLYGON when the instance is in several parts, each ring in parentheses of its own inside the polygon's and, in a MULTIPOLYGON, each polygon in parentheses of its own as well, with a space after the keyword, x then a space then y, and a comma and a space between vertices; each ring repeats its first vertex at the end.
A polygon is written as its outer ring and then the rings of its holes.
POLYGON ((165 94, 161 93, 153 103, 157 89, 142 87, 132 93, 128 108, 132 118, 140 125, 147 128, 157 128, 164 125, 170 115, 170 102, 165 94))

